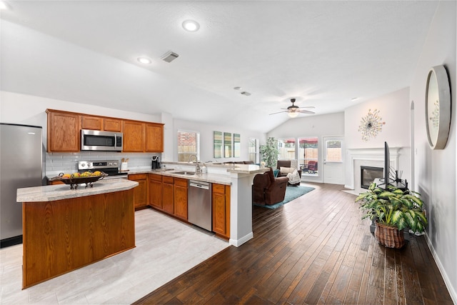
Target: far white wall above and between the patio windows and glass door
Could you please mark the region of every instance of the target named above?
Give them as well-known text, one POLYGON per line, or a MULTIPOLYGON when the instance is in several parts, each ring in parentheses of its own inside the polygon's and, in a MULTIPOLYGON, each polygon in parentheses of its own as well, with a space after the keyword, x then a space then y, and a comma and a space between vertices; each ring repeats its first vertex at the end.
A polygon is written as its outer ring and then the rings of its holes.
MULTIPOLYGON (((286 114, 284 114, 286 115, 286 114)), ((318 137, 318 150, 322 151, 323 136, 344 135, 344 113, 305 116, 303 118, 288 119, 286 123, 268 132, 267 136, 276 139, 318 137)), ((318 164, 323 164, 322 154, 319 154, 318 164)), ((318 176, 302 176, 306 181, 322 182, 322 171, 318 176), (306 178, 306 179, 305 179, 306 178)))

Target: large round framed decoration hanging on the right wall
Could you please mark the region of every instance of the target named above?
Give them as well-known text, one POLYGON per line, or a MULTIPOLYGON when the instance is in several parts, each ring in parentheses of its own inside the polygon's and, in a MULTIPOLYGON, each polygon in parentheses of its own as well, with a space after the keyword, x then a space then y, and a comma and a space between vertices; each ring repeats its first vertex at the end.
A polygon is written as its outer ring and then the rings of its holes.
POLYGON ((451 89, 444 66, 433 66, 428 71, 426 126, 431 149, 444 149, 451 126, 451 89))

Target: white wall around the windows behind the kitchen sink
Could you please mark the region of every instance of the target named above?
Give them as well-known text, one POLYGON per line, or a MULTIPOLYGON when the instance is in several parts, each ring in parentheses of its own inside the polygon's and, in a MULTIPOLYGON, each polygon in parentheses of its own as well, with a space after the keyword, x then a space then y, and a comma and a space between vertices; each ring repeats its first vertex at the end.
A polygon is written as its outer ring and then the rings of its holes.
MULTIPOLYGON (((216 126, 216 125, 204 125, 196 121, 184 121, 175 119, 174 120, 174 154, 173 161, 178 160, 178 142, 176 140, 176 134, 178 131, 196 131, 200 133, 200 160, 201 161, 216 161, 216 162, 225 162, 225 161, 246 161, 248 157, 248 140, 250 138, 255 138, 265 143, 266 135, 258 131, 247 131, 242 129, 236 129, 233 126, 216 126), (239 158, 219 158, 214 159, 214 131, 230 132, 232 134, 240 134, 241 138, 241 151, 239 158)), ((232 147, 233 153, 233 147, 232 147)))

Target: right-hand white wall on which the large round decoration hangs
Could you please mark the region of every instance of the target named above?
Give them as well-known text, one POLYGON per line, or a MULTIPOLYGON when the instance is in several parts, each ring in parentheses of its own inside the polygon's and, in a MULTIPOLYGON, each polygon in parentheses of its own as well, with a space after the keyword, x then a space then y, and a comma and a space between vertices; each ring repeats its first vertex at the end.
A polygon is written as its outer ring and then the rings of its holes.
POLYGON ((415 188, 424 196, 428 216, 427 237, 441 274, 457 304, 456 209, 456 1, 441 1, 411 82, 414 102, 415 188), (451 86, 451 131, 445 149, 428 146, 425 92, 428 71, 444 65, 451 86))

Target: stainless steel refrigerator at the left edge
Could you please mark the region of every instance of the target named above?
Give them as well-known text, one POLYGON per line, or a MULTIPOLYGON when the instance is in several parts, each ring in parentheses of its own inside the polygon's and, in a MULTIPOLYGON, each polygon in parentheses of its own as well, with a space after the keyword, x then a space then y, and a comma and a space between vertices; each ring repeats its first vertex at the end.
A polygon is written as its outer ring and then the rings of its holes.
POLYGON ((41 186, 43 141, 40 126, 0 123, 0 247, 21 244, 22 204, 16 191, 41 186))

